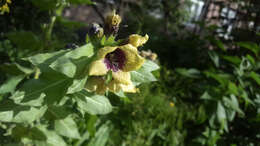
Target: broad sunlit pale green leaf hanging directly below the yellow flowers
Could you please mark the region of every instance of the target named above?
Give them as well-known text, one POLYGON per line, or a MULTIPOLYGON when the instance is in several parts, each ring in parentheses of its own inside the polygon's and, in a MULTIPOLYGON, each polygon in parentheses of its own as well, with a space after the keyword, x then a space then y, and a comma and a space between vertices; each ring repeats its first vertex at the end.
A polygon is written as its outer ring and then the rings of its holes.
POLYGON ((95 95, 82 90, 74 94, 80 111, 92 115, 108 114, 112 111, 112 105, 105 96, 95 95))

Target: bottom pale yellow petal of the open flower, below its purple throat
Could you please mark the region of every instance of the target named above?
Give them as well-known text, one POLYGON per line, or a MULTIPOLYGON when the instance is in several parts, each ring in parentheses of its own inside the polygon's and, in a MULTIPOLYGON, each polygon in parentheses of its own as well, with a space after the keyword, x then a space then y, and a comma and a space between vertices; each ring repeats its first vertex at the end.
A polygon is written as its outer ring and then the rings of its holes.
POLYGON ((131 84, 131 75, 129 72, 123 72, 123 71, 117 71, 117 72, 112 72, 112 77, 113 79, 121 84, 131 84))

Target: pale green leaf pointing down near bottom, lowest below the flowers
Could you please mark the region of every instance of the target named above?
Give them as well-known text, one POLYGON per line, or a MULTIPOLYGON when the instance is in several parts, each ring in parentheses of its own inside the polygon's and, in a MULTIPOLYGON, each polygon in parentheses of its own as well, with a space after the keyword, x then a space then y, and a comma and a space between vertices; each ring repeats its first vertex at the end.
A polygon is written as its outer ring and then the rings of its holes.
POLYGON ((80 138, 78 132, 77 124, 74 122, 73 118, 67 117, 65 119, 55 121, 55 131, 62 136, 69 138, 80 138))

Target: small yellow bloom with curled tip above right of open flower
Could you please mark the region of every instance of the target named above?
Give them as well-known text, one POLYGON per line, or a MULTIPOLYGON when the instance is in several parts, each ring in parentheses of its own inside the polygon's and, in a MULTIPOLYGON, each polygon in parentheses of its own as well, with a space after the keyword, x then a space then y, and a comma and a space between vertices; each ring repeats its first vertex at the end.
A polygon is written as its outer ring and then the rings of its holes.
POLYGON ((142 46, 145 44, 149 39, 149 36, 146 34, 144 37, 138 35, 138 34, 132 34, 129 36, 128 40, 129 43, 135 47, 142 46))

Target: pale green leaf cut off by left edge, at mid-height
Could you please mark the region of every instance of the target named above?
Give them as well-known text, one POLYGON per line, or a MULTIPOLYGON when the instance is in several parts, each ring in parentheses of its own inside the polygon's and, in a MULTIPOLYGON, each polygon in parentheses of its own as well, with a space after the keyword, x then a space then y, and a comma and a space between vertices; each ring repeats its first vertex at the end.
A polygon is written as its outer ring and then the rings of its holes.
POLYGON ((0 94, 14 92, 16 86, 24 79, 24 75, 9 78, 2 86, 0 86, 0 94))

